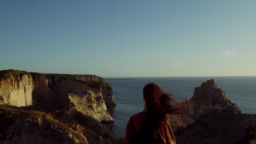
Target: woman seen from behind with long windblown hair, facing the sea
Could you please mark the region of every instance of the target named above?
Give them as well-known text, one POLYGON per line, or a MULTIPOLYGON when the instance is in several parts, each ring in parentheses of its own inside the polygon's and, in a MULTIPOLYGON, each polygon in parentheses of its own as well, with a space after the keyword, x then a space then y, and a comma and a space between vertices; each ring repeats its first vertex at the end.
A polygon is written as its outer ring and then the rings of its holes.
POLYGON ((176 143, 167 118, 178 110, 171 94, 148 83, 143 88, 143 99, 144 110, 130 118, 124 143, 176 143))

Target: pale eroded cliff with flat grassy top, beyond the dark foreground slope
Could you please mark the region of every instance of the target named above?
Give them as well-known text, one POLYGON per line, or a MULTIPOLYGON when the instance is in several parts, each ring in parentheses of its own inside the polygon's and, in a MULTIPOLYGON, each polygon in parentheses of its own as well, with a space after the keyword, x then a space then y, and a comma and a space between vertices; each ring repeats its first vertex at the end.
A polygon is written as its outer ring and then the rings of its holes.
POLYGON ((77 109, 99 121, 113 122, 107 107, 113 106, 112 87, 95 75, 61 75, 1 71, 0 104, 43 104, 77 109), (90 80, 90 81, 88 81, 90 80), (95 80, 95 81, 92 81, 95 80), (105 103, 105 100, 107 103, 105 103))

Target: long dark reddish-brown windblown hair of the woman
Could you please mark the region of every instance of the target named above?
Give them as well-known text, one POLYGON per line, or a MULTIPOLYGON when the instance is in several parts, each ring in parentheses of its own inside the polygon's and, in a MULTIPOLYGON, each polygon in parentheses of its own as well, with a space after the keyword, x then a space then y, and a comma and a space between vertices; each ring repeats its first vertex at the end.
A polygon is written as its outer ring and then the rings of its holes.
POLYGON ((147 104, 147 127, 154 141, 160 136, 161 129, 168 124, 169 114, 178 113, 179 108, 173 103, 171 94, 165 93, 155 83, 148 83, 143 88, 143 97, 147 104))

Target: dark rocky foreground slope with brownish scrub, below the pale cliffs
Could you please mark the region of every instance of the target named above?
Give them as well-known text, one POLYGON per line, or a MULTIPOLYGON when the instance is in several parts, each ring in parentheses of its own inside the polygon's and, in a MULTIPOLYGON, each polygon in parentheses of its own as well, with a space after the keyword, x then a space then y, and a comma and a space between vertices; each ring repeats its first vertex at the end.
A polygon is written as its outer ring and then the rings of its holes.
POLYGON ((0 143, 123 143, 75 109, 0 106, 0 143))

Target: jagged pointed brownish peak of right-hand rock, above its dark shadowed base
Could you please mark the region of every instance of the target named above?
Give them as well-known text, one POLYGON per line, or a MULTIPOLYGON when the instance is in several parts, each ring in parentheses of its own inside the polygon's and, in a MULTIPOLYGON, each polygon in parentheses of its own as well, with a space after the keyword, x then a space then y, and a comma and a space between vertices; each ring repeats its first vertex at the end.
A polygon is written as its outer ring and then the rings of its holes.
POLYGON ((182 108, 181 113, 171 118, 174 131, 186 128, 202 115, 218 115, 222 110, 242 113, 236 104, 226 98, 226 93, 216 85, 213 79, 196 87, 194 96, 190 100, 182 101, 178 106, 182 108))

